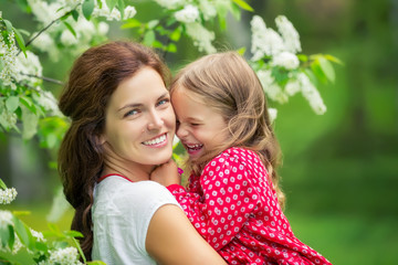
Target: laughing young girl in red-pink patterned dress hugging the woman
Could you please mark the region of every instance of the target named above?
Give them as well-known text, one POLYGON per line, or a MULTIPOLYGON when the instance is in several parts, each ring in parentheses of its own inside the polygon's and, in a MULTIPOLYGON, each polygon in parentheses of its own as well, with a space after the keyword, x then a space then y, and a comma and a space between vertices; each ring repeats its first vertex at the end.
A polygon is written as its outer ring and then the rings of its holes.
POLYGON ((151 179, 167 186, 211 246, 229 264, 331 264, 294 236, 282 212, 280 149, 245 60, 207 55, 177 75, 170 93, 189 187, 170 173, 175 166, 159 167, 151 179))

